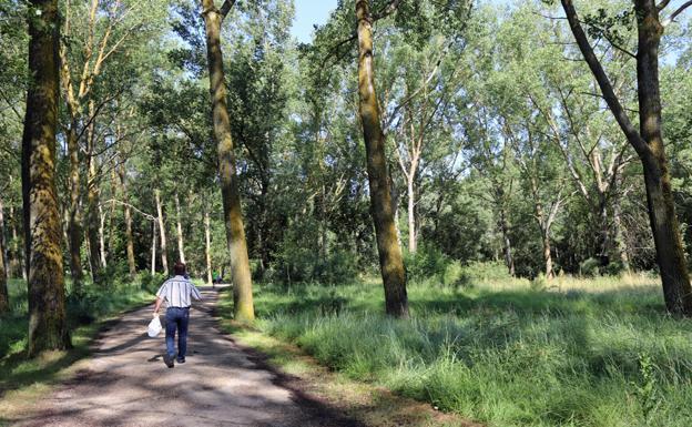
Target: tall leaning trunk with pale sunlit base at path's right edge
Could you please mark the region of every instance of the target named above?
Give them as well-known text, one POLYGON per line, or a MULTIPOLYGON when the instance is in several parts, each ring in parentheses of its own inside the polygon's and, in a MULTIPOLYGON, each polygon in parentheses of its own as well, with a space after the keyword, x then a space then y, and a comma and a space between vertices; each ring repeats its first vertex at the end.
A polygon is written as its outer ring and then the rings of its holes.
POLYGON ((202 0, 202 9, 206 30, 206 53, 214 136, 218 144, 218 176, 233 275, 233 311, 236 321, 252 322, 255 318, 252 277, 247 258, 245 230, 243 227, 241 195, 235 172, 231 122, 226 108, 226 84, 223 70, 223 53, 221 51, 221 21, 223 18, 214 6, 213 0, 202 0))

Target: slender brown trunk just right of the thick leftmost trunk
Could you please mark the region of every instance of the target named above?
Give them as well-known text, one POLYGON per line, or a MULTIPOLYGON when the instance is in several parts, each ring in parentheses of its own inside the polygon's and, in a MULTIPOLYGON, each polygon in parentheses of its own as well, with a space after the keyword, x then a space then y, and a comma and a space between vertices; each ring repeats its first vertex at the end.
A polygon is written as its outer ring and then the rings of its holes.
POLYGON ((82 213, 80 207, 80 164, 79 144, 77 138, 77 122, 72 122, 68 132, 68 153, 70 155, 70 207, 68 214, 70 223, 70 274, 72 275, 72 289, 77 294, 82 288, 82 213))

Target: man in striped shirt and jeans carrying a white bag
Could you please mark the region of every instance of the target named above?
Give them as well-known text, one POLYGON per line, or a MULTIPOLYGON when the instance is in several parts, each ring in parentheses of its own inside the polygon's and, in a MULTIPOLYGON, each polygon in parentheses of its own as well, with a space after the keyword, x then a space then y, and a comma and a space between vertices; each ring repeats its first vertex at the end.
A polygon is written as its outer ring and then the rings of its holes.
POLYGON ((161 304, 166 302, 166 353, 163 362, 170 368, 174 366, 175 359, 175 329, 177 329, 177 363, 185 363, 191 297, 202 299, 200 291, 186 278, 185 264, 175 263, 173 273, 175 276, 165 281, 156 292, 156 306, 154 307, 154 315, 157 316, 161 304))

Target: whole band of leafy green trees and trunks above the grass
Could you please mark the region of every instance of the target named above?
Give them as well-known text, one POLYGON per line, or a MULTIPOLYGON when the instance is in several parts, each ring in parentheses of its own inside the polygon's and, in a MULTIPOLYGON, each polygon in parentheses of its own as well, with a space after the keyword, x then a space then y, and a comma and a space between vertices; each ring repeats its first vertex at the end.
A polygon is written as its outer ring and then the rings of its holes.
POLYGON ((655 270, 692 313, 689 2, 354 0, 311 43, 291 1, 1 4, 0 311, 24 276, 30 354, 69 345, 65 294, 173 257, 241 322, 253 279, 370 270, 407 317, 435 256, 655 270))

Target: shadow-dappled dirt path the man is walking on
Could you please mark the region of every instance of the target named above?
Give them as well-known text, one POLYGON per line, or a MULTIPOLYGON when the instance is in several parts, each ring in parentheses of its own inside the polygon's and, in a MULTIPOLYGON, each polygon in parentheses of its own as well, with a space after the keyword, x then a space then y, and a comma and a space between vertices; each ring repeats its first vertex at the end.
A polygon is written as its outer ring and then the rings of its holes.
POLYGON ((283 387, 217 329, 217 294, 193 305, 186 363, 169 369, 164 333, 146 336, 152 307, 126 314, 95 343, 93 358, 18 426, 357 426, 283 387))

